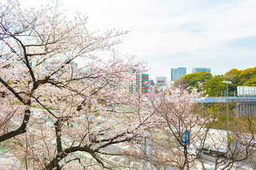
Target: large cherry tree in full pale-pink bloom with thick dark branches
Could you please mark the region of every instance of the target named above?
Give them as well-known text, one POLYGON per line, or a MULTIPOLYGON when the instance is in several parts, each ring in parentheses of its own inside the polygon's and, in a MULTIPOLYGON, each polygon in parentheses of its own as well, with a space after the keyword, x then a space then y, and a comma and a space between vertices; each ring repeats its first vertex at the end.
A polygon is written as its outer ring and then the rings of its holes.
POLYGON ((111 168, 108 146, 136 139, 151 120, 146 94, 129 92, 144 66, 114 49, 126 31, 90 32, 87 17, 57 6, 0 7, 1 145, 22 169, 111 168))

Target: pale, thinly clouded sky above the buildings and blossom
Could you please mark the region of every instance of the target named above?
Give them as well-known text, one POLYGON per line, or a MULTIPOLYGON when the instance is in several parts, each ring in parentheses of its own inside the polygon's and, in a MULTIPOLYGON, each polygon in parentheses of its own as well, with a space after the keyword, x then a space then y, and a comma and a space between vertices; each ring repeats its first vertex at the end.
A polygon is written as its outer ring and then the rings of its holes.
MULTIPOLYGON (((52 0, 20 0, 23 7, 52 0)), ((117 46, 148 61, 151 79, 171 68, 210 67, 213 75, 256 67, 256 0, 60 0, 74 15, 89 16, 90 30, 130 31, 117 46)))

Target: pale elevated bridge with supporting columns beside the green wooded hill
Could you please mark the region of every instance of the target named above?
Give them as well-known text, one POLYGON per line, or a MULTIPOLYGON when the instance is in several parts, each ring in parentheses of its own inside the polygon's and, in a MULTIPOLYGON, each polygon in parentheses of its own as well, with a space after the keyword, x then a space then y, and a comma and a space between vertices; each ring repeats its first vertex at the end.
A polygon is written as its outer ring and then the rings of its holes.
MULTIPOLYGON (((236 103, 236 117, 256 115, 256 97, 228 97, 229 103, 236 103)), ((206 97, 201 103, 227 103, 227 97, 206 97)))

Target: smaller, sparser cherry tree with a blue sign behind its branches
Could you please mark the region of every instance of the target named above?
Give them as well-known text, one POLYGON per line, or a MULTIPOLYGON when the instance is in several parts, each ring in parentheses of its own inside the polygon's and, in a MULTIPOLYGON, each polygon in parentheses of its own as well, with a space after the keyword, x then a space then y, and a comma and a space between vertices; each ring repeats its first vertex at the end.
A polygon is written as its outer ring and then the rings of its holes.
MULTIPOLYGON (((149 163, 145 163, 148 169, 190 169, 200 157, 199 149, 204 145, 209 128, 216 120, 206 112, 202 118, 200 101, 205 98, 199 98, 200 96, 201 93, 196 88, 189 92, 166 87, 157 97, 148 97, 151 112, 154 113, 154 126, 149 129, 152 135, 148 136, 148 148, 152 151, 137 155, 149 163), (190 152, 192 146, 197 148, 194 153, 190 152)), ((147 146, 141 148, 141 151, 145 147, 147 146)))

